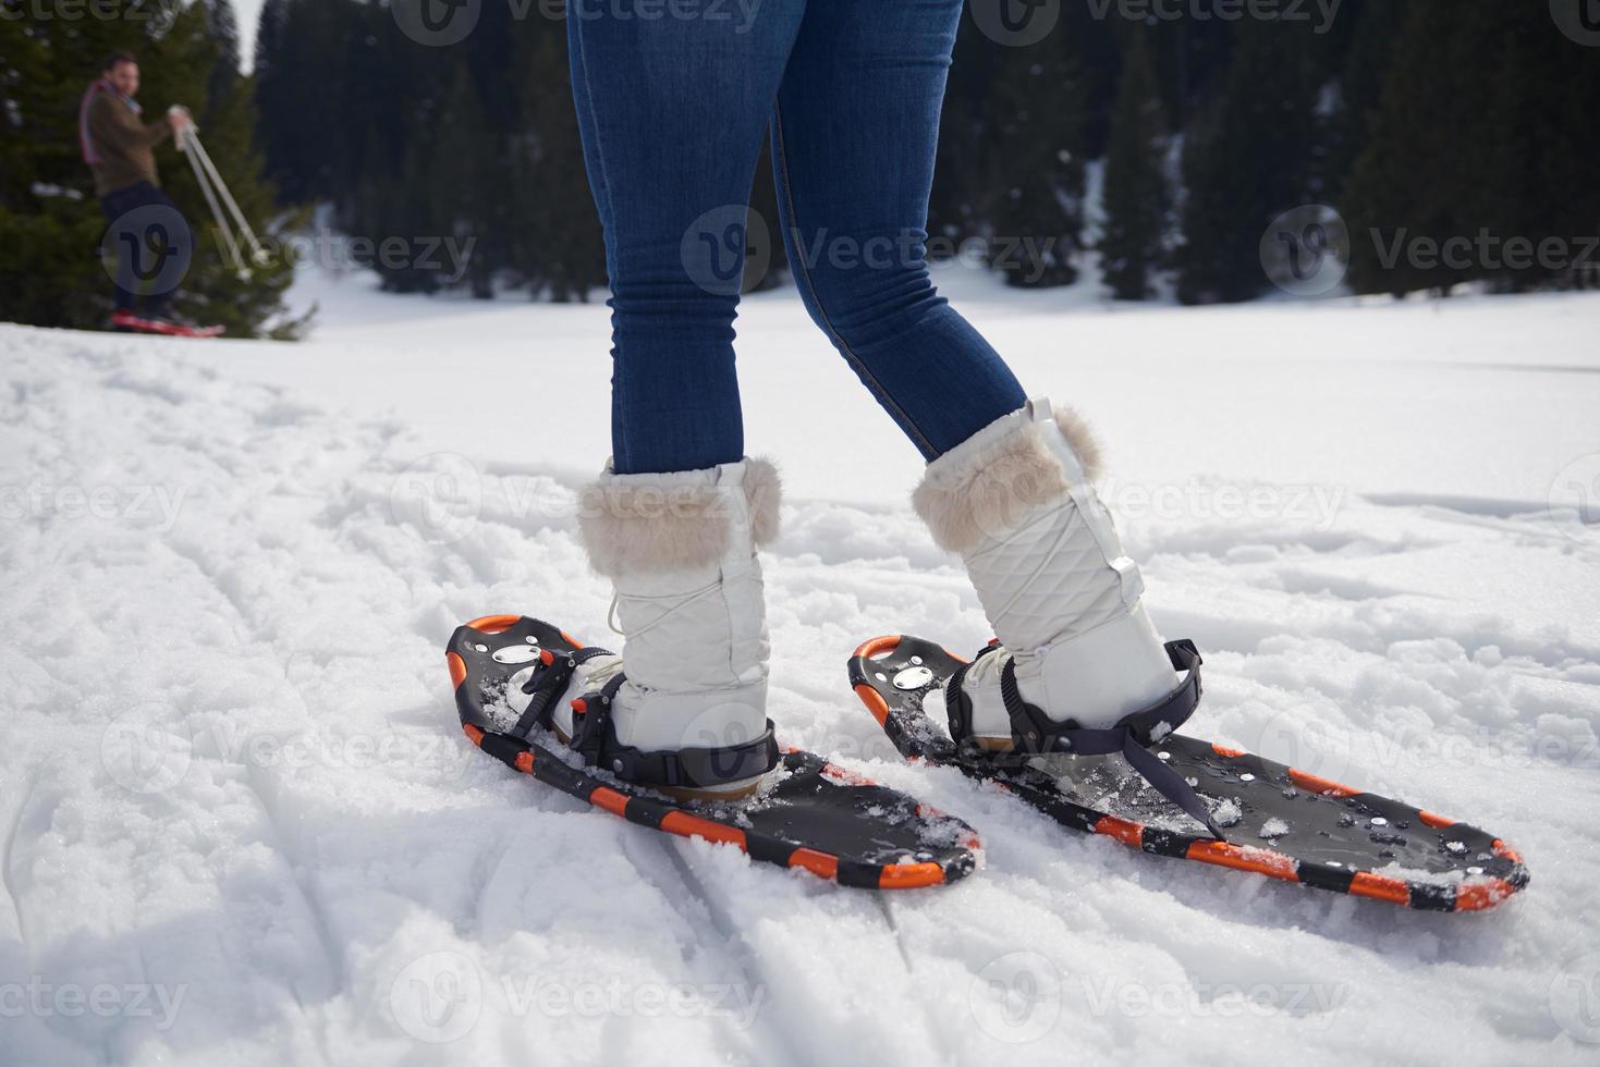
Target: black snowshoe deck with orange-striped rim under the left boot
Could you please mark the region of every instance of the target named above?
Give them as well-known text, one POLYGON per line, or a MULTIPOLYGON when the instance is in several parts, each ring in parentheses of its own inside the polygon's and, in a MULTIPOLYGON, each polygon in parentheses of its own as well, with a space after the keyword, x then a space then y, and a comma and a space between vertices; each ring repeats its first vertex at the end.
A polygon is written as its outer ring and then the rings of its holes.
POLYGON ((486 616, 458 627, 445 657, 472 744, 629 822, 738 845, 752 859, 803 867, 843 886, 915 889, 955 881, 976 865, 979 841, 970 825, 810 752, 787 750, 747 800, 677 801, 584 766, 549 731, 498 733, 496 720, 507 715, 490 709, 506 707, 512 678, 538 662, 541 649, 578 648, 563 630, 520 616, 486 616))

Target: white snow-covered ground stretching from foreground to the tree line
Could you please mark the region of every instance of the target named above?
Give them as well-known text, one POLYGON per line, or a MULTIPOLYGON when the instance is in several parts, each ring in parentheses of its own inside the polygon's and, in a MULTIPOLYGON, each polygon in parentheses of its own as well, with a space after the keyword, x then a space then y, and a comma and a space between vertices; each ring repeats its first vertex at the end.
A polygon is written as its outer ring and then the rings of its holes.
MULTIPOLYGON (((320 275, 318 275, 320 277, 320 275)), ((1080 838, 890 758, 866 637, 986 637, 920 461, 792 293, 741 318, 784 739, 973 822, 874 896, 469 749, 442 646, 605 643, 605 309, 307 283, 301 346, 0 326, 6 1064, 1595 1062, 1600 296, 1130 310, 944 274, 1106 491, 1190 731, 1510 840, 1411 913, 1080 838)))

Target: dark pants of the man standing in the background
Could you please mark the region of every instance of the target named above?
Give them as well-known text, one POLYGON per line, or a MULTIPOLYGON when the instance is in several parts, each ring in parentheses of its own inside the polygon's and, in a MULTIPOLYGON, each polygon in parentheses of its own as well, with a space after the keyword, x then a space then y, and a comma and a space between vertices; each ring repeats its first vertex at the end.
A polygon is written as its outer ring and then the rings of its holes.
POLYGON ((171 198, 139 182, 101 197, 117 256, 117 310, 166 314, 194 259, 194 235, 171 198))

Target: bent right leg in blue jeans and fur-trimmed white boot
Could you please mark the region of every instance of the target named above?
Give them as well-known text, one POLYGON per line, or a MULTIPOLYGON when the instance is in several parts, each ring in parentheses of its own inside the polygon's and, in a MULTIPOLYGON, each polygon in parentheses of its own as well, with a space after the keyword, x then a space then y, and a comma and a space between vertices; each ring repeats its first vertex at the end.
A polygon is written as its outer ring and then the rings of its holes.
POLYGON ((928 280, 923 227, 960 10, 813 0, 779 93, 774 163, 800 291, 928 458, 917 512, 962 555, 1002 641, 950 694, 963 736, 1000 747, 1027 744, 1013 731, 1018 701, 1110 728, 1178 680, 1094 494, 1088 429, 1027 402, 928 280))

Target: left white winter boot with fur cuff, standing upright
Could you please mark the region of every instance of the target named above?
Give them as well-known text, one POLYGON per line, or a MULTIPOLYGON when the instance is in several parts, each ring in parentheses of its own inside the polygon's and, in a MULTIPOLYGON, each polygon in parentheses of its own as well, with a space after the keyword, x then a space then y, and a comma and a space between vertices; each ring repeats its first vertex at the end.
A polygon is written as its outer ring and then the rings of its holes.
POLYGON ((755 550, 778 536, 779 493, 762 459, 651 475, 608 469, 584 490, 584 549, 614 584, 626 643, 621 656, 579 653, 549 707, 574 750, 686 798, 746 797, 776 766, 755 550))

